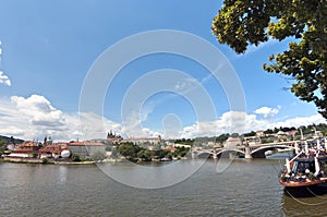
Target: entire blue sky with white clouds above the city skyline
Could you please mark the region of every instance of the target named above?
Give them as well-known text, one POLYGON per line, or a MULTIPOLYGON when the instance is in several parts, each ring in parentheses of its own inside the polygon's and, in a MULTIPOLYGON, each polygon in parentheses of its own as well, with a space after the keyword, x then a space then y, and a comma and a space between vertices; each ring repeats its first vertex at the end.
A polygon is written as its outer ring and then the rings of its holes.
POLYGON ((219 0, 0 0, 0 135, 55 141, 216 136, 326 123, 211 33, 219 0))

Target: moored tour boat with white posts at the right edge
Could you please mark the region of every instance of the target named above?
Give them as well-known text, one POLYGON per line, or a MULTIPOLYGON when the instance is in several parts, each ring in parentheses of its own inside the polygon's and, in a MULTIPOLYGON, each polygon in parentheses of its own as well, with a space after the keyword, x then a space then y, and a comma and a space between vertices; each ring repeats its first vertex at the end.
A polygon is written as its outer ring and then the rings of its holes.
POLYGON ((295 156, 286 159, 286 165, 279 173, 281 185, 295 189, 327 183, 326 138, 315 140, 310 145, 305 141, 304 145, 302 144, 304 148, 300 150, 299 144, 295 144, 295 156))

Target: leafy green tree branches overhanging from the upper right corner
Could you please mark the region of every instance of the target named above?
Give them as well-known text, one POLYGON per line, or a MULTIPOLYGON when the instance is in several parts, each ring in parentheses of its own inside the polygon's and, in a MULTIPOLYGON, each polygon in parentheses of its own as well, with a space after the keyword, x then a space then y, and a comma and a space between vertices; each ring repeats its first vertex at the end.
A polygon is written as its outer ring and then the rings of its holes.
POLYGON ((293 80, 290 91, 313 101, 327 119, 326 23, 326 0, 225 0, 211 29, 219 43, 238 53, 249 45, 291 37, 289 49, 271 55, 264 70, 293 80))

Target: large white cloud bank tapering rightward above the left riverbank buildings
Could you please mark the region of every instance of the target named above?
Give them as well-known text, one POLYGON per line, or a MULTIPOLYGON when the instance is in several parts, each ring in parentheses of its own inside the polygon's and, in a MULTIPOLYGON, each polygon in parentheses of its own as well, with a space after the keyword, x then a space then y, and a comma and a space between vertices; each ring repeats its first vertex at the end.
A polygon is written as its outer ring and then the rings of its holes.
POLYGON ((0 98, 0 135, 40 141, 51 135, 55 141, 71 141, 105 138, 109 130, 123 136, 158 135, 146 128, 125 128, 92 112, 64 113, 39 95, 0 98))

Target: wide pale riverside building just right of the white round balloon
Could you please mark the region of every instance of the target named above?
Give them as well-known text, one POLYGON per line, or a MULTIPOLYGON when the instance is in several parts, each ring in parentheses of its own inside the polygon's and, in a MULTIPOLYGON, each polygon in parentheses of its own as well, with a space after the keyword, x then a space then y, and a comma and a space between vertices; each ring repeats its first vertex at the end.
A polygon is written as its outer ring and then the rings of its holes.
POLYGON ((71 142, 68 143, 68 149, 75 155, 78 155, 80 158, 90 158, 96 153, 106 154, 106 146, 102 143, 94 142, 71 142))

